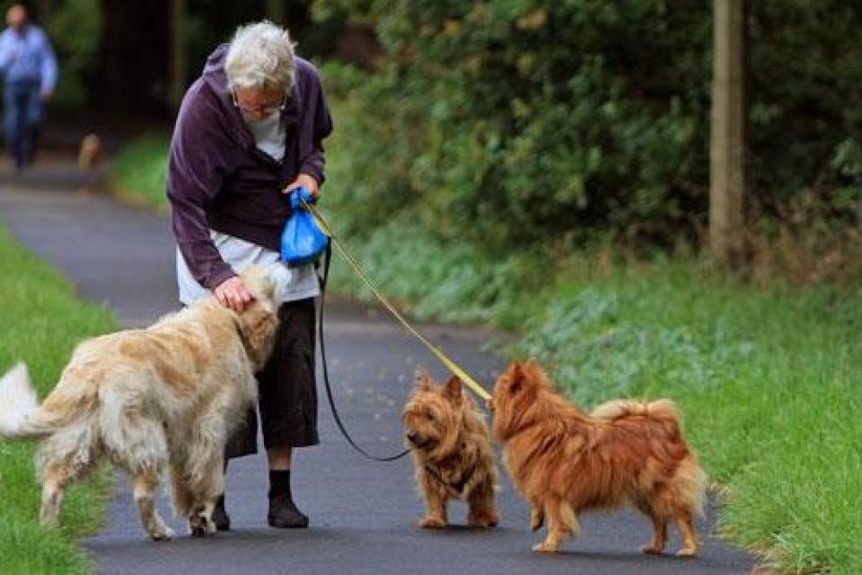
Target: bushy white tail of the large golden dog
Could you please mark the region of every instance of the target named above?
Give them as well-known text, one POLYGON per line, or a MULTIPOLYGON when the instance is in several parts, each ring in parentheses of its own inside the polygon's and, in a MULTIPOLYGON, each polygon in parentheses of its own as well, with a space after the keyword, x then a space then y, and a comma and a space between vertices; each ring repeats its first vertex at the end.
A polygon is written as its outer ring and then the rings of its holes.
POLYGON ((78 416, 77 410, 52 407, 39 404, 27 366, 18 363, 0 378, 0 438, 45 438, 78 416))

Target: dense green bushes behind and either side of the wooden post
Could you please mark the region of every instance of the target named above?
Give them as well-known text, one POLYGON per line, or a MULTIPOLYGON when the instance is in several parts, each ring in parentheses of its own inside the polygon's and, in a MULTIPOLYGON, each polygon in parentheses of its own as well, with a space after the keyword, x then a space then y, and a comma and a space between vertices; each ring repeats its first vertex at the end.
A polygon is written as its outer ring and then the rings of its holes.
MULTIPOLYGON (((357 133, 341 143, 352 165, 339 183, 383 202, 378 217, 416 204, 442 237, 502 252, 549 237, 583 246, 596 232, 638 248, 699 239, 711 3, 312 5, 318 19, 374 22, 387 55, 371 75, 325 74, 350 110, 339 129, 357 133)), ((854 222, 862 115, 846 102, 862 98, 862 9, 766 0, 750 22, 757 213, 814 190, 854 222)))

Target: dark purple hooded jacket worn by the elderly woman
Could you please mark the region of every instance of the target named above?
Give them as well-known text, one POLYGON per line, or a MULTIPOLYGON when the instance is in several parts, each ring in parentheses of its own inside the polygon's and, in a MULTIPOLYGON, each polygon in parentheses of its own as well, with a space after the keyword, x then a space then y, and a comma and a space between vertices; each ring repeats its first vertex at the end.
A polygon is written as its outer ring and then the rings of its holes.
POLYGON ((332 131, 317 70, 296 57, 293 93, 282 112, 285 157, 278 162, 261 152, 227 87, 227 49, 223 44, 209 56, 183 98, 168 158, 173 233, 192 275, 208 289, 236 275, 210 229, 277 252, 290 214, 281 190, 300 173, 323 182, 321 140, 332 131))

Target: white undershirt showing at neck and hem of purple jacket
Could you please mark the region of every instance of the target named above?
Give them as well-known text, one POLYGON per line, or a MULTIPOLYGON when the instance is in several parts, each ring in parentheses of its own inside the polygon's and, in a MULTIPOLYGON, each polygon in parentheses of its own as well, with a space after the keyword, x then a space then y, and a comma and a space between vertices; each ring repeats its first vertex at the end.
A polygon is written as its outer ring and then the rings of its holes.
MULTIPOLYGON (((262 120, 243 118, 254 136, 255 145, 264 154, 277 161, 285 156, 286 131, 281 124, 281 113, 275 112, 262 120)), ((251 242, 246 242, 233 235, 222 234, 210 230, 210 239, 234 271, 241 272, 251 264, 257 264, 268 270, 269 276, 276 282, 276 299, 279 304, 298 299, 319 296, 321 293, 314 265, 288 268, 281 261, 280 254, 251 242)), ((180 288, 180 301, 189 305, 196 299, 209 296, 208 289, 203 288, 191 275, 189 266, 177 248, 177 284, 180 288)))

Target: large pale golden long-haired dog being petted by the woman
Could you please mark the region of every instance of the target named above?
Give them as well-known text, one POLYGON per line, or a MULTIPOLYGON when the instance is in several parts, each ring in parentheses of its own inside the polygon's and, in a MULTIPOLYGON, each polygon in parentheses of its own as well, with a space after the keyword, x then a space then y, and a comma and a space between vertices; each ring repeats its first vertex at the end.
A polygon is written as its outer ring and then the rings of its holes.
POLYGON ((210 296, 145 330, 82 342, 41 405, 23 364, 0 379, 0 437, 41 440, 43 525, 57 525, 66 486, 105 456, 131 476, 154 540, 173 536, 154 508, 166 471, 192 535, 215 533, 224 445, 257 397, 254 373, 278 323, 267 272, 251 267, 242 279, 255 296, 242 314, 210 296))

